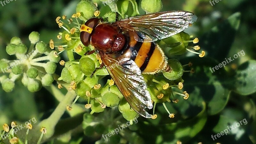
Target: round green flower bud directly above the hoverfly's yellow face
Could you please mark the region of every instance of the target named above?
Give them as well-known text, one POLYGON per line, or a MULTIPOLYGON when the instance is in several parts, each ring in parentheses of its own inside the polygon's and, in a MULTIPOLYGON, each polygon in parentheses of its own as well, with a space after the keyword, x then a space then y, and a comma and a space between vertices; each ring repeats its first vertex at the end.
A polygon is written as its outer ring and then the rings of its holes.
POLYGON ((93 13, 96 10, 96 5, 89 0, 82 0, 76 5, 76 12, 81 12, 79 19, 83 21, 87 21, 88 19, 92 18, 94 16, 93 13))

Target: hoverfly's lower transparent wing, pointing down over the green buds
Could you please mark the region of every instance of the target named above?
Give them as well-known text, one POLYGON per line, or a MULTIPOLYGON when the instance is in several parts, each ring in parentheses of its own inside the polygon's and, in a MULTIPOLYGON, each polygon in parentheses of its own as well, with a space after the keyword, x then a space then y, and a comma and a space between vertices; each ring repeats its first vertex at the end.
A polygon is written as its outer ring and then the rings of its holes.
POLYGON ((151 109, 153 105, 140 68, 129 58, 117 61, 116 57, 117 55, 101 55, 110 76, 126 101, 140 116, 151 118, 145 109, 151 109))

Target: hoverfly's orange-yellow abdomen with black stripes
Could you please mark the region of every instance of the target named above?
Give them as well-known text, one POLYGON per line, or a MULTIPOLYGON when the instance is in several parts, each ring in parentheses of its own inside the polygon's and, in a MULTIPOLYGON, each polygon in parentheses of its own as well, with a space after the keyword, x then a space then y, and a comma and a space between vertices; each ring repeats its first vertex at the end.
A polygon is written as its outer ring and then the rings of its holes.
POLYGON ((129 43, 122 56, 134 60, 145 74, 155 74, 167 67, 164 52, 156 43, 137 42, 133 36, 129 36, 129 43))

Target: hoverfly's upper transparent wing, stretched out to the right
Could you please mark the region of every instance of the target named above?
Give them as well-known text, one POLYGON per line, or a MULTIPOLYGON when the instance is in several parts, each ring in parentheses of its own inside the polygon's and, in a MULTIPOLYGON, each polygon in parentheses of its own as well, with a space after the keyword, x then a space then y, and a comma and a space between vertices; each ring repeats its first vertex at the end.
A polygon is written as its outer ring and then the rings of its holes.
POLYGON ((154 42, 180 33, 196 20, 191 12, 168 11, 123 19, 116 25, 124 31, 136 32, 139 37, 135 40, 139 42, 154 42))

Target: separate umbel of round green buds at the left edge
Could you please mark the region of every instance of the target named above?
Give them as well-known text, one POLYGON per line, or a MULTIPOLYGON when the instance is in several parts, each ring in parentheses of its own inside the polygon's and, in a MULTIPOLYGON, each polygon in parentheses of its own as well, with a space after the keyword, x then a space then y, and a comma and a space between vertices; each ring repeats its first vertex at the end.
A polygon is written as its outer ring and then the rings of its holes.
POLYGON ((42 85, 49 86, 54 81, 52 74, 60 57, 39 41, 38 32, 30 33, 28 38, 31 43, 29 49, 19 37, 13 37, 6 46, 6 52, 15 55, 16 60, 0 60, 0 82, 5 92, 12 92, 19 80, 30 92, 37 92, 42 85))

